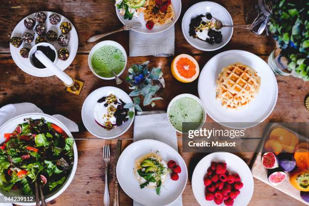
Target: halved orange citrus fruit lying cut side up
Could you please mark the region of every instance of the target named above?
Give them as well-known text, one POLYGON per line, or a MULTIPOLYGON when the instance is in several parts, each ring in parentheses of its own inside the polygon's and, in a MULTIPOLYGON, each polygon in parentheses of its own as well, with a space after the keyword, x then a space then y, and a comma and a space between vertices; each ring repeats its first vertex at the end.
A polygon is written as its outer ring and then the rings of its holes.
POLYGON ((182 54, 175 57, 171 66, 173 76, 180 82, 189 83, 199 75, 199 66, 190 55, 182 54))

